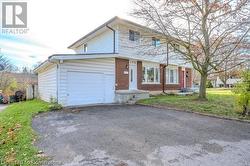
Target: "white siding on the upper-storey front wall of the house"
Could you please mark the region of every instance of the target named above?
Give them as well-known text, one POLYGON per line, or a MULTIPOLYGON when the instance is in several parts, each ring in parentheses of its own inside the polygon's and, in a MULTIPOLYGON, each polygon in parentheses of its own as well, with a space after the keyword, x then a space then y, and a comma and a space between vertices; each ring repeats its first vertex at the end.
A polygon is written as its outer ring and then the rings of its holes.
MULTIPOLYGON (((167 57, 167 42, 164 38, 152 34, 149 31, 130 25, 119 25, 118 30, 118 48, 119 54, 128 56, 130 58, 139 58, 144 60, 158 61, 160 63, 166 63, 167 57), (140 33, 139 42, 129 40, 129 30, 134 30, 140 33), (152 41, 152 39, 156 39, 152 41)), ((169 46, 169 64, 183 65, 191 67, 190 63, 182 58, 181 54, 174 52, 169 46)))

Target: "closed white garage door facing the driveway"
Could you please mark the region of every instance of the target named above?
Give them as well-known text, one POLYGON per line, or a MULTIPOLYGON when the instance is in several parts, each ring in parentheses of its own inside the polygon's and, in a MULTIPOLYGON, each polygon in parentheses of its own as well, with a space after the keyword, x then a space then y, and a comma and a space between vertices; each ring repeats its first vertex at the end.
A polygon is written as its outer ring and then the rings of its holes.
POLYGON ((112 103, 113 85, 112 75, 68 72, 67 105, 112 103))

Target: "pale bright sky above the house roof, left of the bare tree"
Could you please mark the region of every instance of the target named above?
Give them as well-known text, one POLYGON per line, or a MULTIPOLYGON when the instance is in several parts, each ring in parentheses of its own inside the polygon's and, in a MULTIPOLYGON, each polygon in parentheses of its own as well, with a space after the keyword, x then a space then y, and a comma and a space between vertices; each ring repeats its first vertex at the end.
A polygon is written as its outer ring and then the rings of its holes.
MULTIPOLYGON (((9 2, 9 0, 0 0, 9 2)), ((12 0, 13 2, 13 0, 12 0)), ((22 0, 20 2, 25 2, 22 0)), ((135 21, 129 13, 132 0, 27 0, 26 35, 0 32, 1 54, 15 65, 29 66, 67 47, 114 16, 135 21)), ((2 11, 2 6, 1 11, 2 11)))

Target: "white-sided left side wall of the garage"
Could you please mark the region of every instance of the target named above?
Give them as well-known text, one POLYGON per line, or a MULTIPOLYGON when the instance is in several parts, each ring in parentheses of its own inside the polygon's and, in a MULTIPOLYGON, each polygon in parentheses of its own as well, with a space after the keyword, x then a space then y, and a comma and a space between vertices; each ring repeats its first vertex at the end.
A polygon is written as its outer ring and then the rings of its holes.
POLYGON ((38 73, 38 95, 47 102, 57 99, 57 67, 50 66, 48 69, 38 73))

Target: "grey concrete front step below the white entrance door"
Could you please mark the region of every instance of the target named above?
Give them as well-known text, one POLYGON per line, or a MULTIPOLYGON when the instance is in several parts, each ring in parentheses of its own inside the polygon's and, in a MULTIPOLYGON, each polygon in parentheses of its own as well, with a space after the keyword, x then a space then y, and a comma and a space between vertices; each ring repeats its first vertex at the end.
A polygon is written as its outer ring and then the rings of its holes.
POLYGON ((137 100, 149 98, 148 91, 142 90, 117 90, 115 101, 123 104, 135 104, 137 100))

